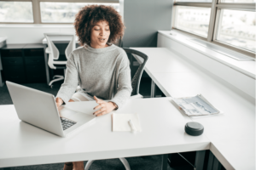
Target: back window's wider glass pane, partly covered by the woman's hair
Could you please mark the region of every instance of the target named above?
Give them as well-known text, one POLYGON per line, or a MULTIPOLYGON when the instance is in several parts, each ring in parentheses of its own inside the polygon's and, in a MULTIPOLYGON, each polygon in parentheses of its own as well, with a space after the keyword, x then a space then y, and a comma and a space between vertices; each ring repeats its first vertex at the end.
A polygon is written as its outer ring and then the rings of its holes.
POLYGON ((73 23, 75 14, 88 4, 111 5, 119 12, 119 3, 48 3, 41 2, 42 22, 50 23, 73 23))

